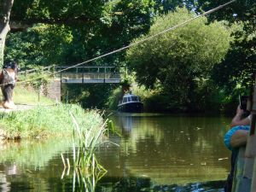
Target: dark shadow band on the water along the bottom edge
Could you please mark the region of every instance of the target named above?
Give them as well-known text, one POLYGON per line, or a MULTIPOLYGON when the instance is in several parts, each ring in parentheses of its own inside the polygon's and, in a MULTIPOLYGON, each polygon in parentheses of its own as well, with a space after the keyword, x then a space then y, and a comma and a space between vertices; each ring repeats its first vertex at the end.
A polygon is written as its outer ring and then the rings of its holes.
MULTIPOLYGON (((37 179, 37 178, 31 178, 37 179)), ((48 188, 36 188, 31 183, 22 180, 11 183, 1 192, 223 192, 224 181, 211 181, 204 183, 188 183, 186 185, 152 185, 150 178, 146 177, 103 177, 102 180, 93 185, 92 183, 84 186, 73 179, 61 179, 60 177, 50 178, 48 188), (39 189, 39 190, 38 190, 39 189)), ((86 178, 89 180, 90 178, 86 178)), ((1 186, 2 183, 0 183, 1 186)))

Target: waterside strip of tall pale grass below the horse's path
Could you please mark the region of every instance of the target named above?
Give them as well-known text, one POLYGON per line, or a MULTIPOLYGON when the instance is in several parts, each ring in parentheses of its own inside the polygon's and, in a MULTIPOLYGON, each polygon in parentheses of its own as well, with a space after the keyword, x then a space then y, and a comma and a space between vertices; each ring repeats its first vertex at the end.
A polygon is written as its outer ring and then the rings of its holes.
POLYGON ((1 113, 0 127, 8 138, 72 136, 73 120, 67 118, 69 111, 76 116, 82 130, 100 128, 103 123, 102 117, 96 111, 84 113, 84 109, 77 105, 58 104, 1 113))

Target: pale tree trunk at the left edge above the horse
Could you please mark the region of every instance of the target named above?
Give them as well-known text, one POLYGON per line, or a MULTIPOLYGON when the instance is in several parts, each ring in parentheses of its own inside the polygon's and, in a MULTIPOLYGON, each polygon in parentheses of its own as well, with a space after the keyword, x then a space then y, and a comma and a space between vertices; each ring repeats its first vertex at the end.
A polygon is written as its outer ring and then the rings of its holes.
POLYGON ((13 4, 14 0, 1 0, 0 2, 0 67, 3 66, 3 50, 6 35, 9 32, 9 15, 13 4))

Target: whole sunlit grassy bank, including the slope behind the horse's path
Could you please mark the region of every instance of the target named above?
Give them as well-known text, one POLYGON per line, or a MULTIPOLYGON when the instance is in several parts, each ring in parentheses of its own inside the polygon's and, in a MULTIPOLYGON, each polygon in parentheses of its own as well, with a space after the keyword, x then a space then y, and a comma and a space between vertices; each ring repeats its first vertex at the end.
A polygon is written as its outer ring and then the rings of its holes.
POLYGON ((82 131, 92 129, 97 131, 103 125, 103 119, 96 110, 84 111, 79 105, 55 104, 54 101, 40 96, 27 87, 15 87, 15 104, 34 105, 32 109, 0 113, 0 137, 28 138, 28 137, 62 137, 72 136, 73 119, 76 118, 82 131))

